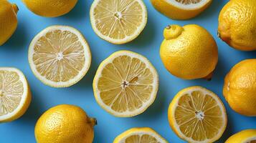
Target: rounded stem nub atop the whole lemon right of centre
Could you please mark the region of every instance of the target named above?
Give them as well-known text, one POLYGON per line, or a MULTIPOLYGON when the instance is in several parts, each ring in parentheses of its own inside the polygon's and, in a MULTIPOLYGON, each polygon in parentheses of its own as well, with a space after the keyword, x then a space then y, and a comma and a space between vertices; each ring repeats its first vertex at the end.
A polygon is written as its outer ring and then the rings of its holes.
POLYGON ((184 29, 179 25, 166 26, 166 29, 164 29, 164 31, 163 31, 164 39, 166 39, 166 40, 175 39, 179 35, 181 35, 183 30, 184 29))

